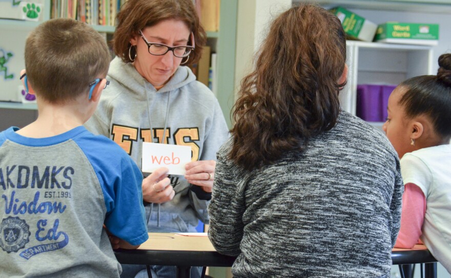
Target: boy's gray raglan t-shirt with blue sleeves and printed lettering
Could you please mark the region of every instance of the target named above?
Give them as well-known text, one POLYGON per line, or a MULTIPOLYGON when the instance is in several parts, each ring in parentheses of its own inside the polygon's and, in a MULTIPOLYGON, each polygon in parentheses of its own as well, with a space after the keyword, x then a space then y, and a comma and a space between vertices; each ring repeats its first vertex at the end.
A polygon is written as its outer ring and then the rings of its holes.
POLYGON ((118 277, 107 229, 148 239, 142 174, 84 127, 47 138, 0 133, 0 277, 118 277))

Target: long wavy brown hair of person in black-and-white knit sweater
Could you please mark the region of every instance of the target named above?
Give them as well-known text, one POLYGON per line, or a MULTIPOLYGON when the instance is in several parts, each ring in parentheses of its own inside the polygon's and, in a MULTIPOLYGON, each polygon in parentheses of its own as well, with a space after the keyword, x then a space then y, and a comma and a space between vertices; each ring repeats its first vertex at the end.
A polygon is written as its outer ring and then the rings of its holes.
POLYGON ((339 19, 315 5, 280 14, 241 81, 229 157, 244 169, 271 164, 333 128, 346 62, 339 19))

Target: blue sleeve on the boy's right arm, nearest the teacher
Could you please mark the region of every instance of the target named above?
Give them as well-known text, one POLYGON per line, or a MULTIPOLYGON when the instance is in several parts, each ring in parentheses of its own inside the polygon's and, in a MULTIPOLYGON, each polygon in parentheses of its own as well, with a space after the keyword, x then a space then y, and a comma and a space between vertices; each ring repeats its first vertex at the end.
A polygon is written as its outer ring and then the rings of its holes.
POLYGON ((142 173, 138 166, 105 136, 84 136, 74 141, 87 156, 99 180, 107 210, 107 229, 131 245, 145 242, 149 236, 142 205, 142 173))

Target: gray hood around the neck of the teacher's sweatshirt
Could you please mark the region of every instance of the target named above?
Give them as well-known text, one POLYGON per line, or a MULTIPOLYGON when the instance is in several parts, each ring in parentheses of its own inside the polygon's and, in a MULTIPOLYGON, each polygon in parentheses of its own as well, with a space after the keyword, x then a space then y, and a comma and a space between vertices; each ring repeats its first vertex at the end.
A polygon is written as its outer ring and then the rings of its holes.
POLYGON ((143 100, 146 99, 146 91, 165 93, 179 89, 191 82, 196 81, 196 75, 194 75, 189 67, 179 66, 168 83, 157 91, 155 87, 146 80, 146 78, 139 74, 132 63, 124 63, 124 61, 117 56, 113 59, 113 61, 111 61, 108 76, 113 78, 120 85, 129 89, 130 92, 141 96, 139 98, 142 98, 143 100), (126 74, 124 74, 124 71, 126 74))

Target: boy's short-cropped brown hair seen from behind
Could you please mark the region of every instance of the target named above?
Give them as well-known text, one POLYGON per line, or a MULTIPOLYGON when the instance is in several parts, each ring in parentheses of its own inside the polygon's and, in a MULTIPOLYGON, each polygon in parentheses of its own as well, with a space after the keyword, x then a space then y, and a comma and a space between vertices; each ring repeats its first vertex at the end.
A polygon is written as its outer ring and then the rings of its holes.
POLYGON ((34 29, 25 45, 27 79, 50 103, 88 97, 89 84, 106 75, 111 61, 105 38, 85 23, 58 18, 34 29))

